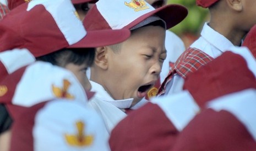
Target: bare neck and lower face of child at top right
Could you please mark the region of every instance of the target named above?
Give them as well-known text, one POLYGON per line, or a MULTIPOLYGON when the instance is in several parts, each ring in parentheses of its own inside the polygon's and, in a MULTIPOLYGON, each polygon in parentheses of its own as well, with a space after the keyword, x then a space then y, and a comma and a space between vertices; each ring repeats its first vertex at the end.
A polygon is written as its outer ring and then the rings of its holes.
POLYGON ((253 0, 221 0, 215 8, 209 8, 209 26, 234 45, 240 45, 241 39, 256 24, 255 8, 256 1, 253 0))

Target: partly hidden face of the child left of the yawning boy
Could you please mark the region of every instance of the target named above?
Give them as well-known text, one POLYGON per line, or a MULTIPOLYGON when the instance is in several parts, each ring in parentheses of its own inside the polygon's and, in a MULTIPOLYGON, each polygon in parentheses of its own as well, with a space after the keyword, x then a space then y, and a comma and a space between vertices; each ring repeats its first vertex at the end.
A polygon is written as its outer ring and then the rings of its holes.
POLYGON ((65 66, 65 68, 71 71, 75 75, 75 77, 77 77, 77 79, 79 80, 79 82, 81 83, 81 85, 85 90, 89 91, 91 89, 91 84, 86 76, 86 70, 88 66, 85 65, 85 63, 83 63, 82 65, 75 65, 74 63, 68 63, 65 66))

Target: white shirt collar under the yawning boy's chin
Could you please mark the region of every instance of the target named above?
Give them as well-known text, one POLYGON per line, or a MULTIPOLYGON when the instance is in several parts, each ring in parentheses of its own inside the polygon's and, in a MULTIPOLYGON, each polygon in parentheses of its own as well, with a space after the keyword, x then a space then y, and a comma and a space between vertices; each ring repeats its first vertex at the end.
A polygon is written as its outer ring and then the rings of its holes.
MULTIPOLYGON (((91 91, 96 92, 95 97, 100 98, 100 100, 109 102, 113 106, 116 106, 121 109, 130 108, 130 106, 132 105, 133 98, 128 98, 124 100, 114 100, 110 96, 110 94, 108 94, 108 92, 103 88, 102 85, 92 81, 90 81, 90 83, 91 83, 91 91)), ((137 109, 140 106, 143 106, 146 102, 148 101, 143 99, 139 103, 135 104, 135 106, 133 106, 131 109, 137 109)))

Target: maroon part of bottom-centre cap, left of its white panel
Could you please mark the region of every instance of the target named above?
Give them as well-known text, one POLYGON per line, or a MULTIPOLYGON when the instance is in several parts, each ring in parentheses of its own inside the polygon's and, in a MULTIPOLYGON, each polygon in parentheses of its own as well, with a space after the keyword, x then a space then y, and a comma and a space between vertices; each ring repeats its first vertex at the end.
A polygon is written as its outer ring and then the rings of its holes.
POLYGON ((178 133, 165 112, 149 102, 115 126, 109 144, 112 151, 168 150, 178 133))

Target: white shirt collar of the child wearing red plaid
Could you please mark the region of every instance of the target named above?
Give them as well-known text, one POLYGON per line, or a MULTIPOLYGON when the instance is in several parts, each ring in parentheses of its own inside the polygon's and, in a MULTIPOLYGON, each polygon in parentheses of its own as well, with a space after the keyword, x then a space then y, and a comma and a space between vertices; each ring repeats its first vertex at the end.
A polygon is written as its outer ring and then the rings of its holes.
POLYGON ((234 46, 225 36, 211 28, 208 25, 208 22, 204 24, 203 30, 201 31, 201 37, 222 51, 222 53, 224 53, 228 48, 234 46))

